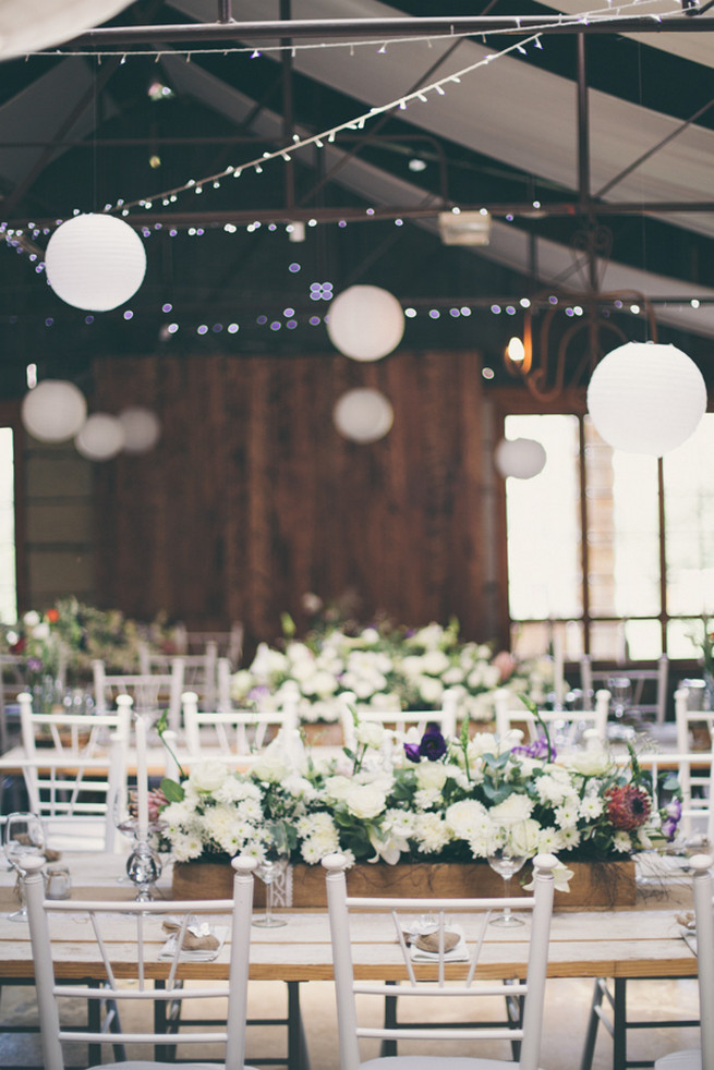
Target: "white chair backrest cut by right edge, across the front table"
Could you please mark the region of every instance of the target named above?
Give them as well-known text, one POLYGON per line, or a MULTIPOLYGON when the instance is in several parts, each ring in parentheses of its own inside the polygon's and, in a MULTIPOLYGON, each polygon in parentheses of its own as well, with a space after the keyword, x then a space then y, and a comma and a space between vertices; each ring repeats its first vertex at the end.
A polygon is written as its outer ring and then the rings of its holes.
POLYGON ((688 692, 675 692, 677 728, 677 779, 681 790, 680 829, 688 839, 704 836, 714 842, 714 713, 690 710, 688 692), (704 722, 710 730, 710 750, 694 751, 690 738, 693 724, 704 722))

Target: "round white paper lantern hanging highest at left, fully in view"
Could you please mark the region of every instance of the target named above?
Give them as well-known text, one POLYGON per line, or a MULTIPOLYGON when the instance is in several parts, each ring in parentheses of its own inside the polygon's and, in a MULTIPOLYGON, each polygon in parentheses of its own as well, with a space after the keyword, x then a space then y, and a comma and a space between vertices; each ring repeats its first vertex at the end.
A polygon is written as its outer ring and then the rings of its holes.
POLYGON ((108 312, 136 293, 146 275, 146 251, 116 216, 74 216, 57 228, 45 254, 47 281, 75 308, 108 312))

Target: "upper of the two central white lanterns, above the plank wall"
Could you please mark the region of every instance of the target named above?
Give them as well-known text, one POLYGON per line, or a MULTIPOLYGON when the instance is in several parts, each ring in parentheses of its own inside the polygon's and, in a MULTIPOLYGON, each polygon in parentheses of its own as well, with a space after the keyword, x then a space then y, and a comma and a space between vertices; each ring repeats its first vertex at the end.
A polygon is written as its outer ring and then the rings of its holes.
POLYGON ((353 361, 378 361, 399 345, 404 314, 387 290, 350 287, 329 306, 327 333, 332 345, 353 361))

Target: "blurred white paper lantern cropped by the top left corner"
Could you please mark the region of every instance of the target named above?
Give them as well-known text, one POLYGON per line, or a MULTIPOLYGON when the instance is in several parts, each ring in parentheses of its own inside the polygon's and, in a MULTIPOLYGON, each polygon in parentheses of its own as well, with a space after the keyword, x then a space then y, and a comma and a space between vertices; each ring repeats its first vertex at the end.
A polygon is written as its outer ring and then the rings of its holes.
POLYGON ((2 0, 0 59, 61 45, 128 7, 129 0, 2 0))

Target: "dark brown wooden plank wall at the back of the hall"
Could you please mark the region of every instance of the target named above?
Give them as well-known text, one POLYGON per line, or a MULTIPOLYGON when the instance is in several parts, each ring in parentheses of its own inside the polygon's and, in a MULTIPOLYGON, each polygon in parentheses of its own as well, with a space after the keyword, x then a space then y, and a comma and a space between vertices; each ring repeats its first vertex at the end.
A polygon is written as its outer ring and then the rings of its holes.
POLYGON ((196 629, 242 620, 256 642, 283 610, 302 622, 304 593, 353 589, 364 619, 456 615, 465 637, 492 637, 474 352, 102 358, 95 387, 95 409, 143 403, 162 422, 152 453, 96 465, 100 604, 196 629), (395 410, 370 446, 331 421, 356 386, 395 410))

